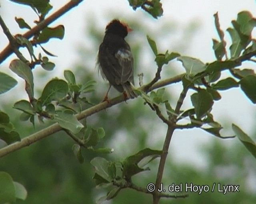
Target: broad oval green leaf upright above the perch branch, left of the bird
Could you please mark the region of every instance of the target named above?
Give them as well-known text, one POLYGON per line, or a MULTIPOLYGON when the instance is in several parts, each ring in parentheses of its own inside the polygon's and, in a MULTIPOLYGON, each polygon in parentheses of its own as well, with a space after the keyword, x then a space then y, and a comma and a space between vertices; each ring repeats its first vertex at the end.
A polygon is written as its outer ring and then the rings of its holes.
POLYGON ((52 102, 52 100, 60 100, 68 94, 68 84, 62 79, 50 80, 42 92, 40 98, 42 106, 52 102))

